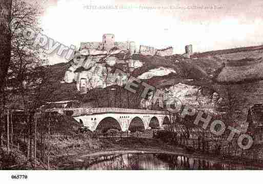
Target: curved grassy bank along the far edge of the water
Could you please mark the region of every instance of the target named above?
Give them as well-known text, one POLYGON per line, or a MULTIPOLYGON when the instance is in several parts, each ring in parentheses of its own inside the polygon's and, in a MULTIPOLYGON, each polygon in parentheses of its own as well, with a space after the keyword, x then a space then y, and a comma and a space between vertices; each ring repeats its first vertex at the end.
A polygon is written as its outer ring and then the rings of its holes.
POLYGON ((187 148, 178 147, 176 145, 169 145, 159 139, 154 138, 140 138, 129 137, 123 139, 105 139, 102 140, 105 145, 104 148, 96 149, 93 151, 79 152, 73 155, 63 155, 57 158, 56 169, 63 168, 63 166, 72 165, 77 161, 83 161, 85 159, 92 159, 100 156, 114 155, 114 154, 170 154, 170 155, 184 155, 186 157, 206 159, 210 161, 219 161, 222 163, 233 163, 237 165, 249 165, 255 168, 262 168, 263 164, 255 159, 248 159, 240 157, 226 157, 221 155, 214 155, 209 153, 202 153, 198 151, 189 150, 187 148), (107 146, 106 146, 107 145, 107 146))

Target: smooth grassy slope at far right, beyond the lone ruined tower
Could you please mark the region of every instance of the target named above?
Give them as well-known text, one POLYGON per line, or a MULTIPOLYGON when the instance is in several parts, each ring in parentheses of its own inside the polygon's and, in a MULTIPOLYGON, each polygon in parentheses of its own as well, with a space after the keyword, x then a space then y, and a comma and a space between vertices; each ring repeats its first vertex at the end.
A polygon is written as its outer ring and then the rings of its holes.
MULTIPOLYGON (((262 46, 249 48, 236 48, 222 51, 201 53, 198 59, 210 60, 211 65, 224 62, 225 67, 215 77, 220 83, 236 83, 262 79, 262 46), (238 51, 238 52, 237 52, 238 51), (209 55, 210 54, 210 55, 209 55), (202 56, 202 57, 201 57, 202 56)), ((204 64, 204 62, 200 62, 204 64)), ((220 69, 220 68, 219 68, 220 69)))

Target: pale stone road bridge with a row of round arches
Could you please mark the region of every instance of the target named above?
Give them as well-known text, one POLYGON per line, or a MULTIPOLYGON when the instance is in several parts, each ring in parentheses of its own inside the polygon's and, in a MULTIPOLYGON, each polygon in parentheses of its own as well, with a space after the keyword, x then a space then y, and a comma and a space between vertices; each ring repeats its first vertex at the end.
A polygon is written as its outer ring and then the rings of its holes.
POLYGON ((59 114, 70 114, 89 130, 119 129, 146 130, 163 128, 170 117, 165 111, 121 108, 53 109, 59 114))

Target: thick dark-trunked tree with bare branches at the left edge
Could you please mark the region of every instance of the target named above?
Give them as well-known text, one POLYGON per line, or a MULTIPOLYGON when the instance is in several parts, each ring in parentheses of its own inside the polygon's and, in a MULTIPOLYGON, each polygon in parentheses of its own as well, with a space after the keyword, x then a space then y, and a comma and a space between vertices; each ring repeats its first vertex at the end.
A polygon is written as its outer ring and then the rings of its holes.
MULTIPOLYGON (((37 7, 29 5, 24 0, 1 0, 0 5, 0 115, 3 125, 4 110, 7 108, 9 112, 9 109, 12 109, 12 103, 14 104, 15 101, 14 95, 19 91, 18 84, 22 84, 23 78, 21 78, 21 74, 23 73, 24 75, 24 65, 30 60, 26 58, 37 54, 36 52, 32 52, 33 49, 30 48, 30 46, 32 46, 32 40, 29 42, 29 40, 25 38, 24 30, 26 30, 26 26, 34 27, 36 25, 39 11, 37 7)), ((7 113, 7 117, 9 120, 9 113, 7 113)), ((7 127, 9 127, 8 121, 7 127)), ((9 129, 7 129, 7 131, 9 131, 9 129)), ((1 131, 1 137, 3 140, 3 130, 1 131)), ((9 143, 9 132, 7 132, 7 138, 7 142, 9 143)))

